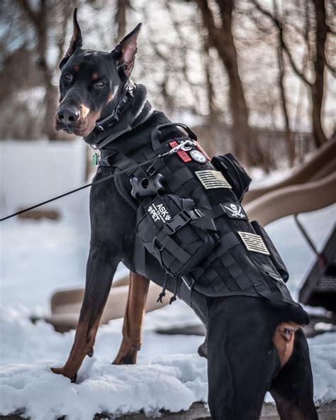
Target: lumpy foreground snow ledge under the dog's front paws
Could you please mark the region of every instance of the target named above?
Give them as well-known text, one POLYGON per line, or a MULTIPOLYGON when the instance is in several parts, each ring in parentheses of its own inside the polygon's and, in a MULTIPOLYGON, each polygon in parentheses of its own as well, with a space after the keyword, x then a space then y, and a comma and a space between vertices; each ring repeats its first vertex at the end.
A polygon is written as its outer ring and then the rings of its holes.
MULTIPOLYGON (((178 365, 155 363, 111 365, 109 360, 86 360, 77 384, 50 372, 55 362, 8 365, 1 372, 1 414, 26 407, 25 415, 35 420, 91 420, 94 414, 129 413, 144 409, 180 411, 194 401, 206 400, 206 363, 196 355, 179 355, 178 365), (185 373, 193 371, 194 380, 185 373), (197 394, 197 395, 196 395, 197 394)), ((162 358, 163 359, 163 358, 162 358)), ((163 360, 162 360, 163 361, 163 360)), ((167 360, 166 360, 167 362, 167 360)))

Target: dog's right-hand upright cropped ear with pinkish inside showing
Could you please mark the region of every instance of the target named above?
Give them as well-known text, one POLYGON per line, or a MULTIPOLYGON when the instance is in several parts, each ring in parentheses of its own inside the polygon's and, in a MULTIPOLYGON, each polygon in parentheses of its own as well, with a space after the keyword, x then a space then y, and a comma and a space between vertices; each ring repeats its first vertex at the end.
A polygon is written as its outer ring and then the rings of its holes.
POLYGON ((126 35, 111 52, 114 60, 116 60, 117 69, 123 71, 126 77, 130 77, 133 69, 135 54, 137 52, 137 38, 141 25, 142 23, 138 23, 138 26, 126 35))

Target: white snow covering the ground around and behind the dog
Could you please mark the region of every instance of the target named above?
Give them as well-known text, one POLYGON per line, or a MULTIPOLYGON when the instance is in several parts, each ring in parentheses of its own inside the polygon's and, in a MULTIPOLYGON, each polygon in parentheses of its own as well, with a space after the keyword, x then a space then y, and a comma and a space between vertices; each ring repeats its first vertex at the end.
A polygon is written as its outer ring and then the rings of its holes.
MULTIPOLYGON (((29 316, 47 314, 55 289, 84 285, 87 201, 87 192, 64 199, 61 221, 1 223, 0 414, 26 409, 37 420, 62 415, 91 420, 102 411, 179 411, 206 402, 206 360, 196 355, 202 337, 155 333, 155 328, 198 324, 183 302, 146 315, 138 365, 111 365, 121 341, 122 320, 116 320, 99 328, 94 357, 86 358, 76 384, 50 372, 67 358, 74 331, 56 333, 42 321, 31 324, 29 316)), ((320 248, 335 221, 335 206, 302 215, 301 221, 320 248)), ((291 217, 271 223, 267 231, 289 267, 296 294, 313 253, 291 217)), ((119 267, 117 275, 123 274, 125 267, 119 267)), ((336 399, 335 340, 332 333, 309 340, 318 403, 336 399)))

